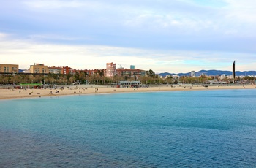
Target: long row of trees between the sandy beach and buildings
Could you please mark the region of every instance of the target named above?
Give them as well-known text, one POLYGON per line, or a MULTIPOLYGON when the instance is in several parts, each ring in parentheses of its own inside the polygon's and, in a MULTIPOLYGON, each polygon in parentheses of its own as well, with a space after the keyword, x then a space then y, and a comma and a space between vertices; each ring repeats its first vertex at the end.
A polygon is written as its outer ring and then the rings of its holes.
MULTIPOLYGON (((0 85, 20 85, 22 83, 38 83, 38 84, 49 84, 49 85, 71 85, 74 83, 79 84, 96 84, 96 85, 107 85, 113 83, 119 83, 119 81, 133 81, 138 80, 142 84, 203 84, 208 80, 217 80, 218 76, 206 76, 200 75, 199 77, 181 76, 179 78, 173 78, 172 76, 165 77, 162 79, 153 70, 149 69, 146 71, 145 76, 137 77, 133 76, 114 76, 113 78, 105 77, 103 70, 98 70, 93 75, 89 75, 86 72, 75 72, 74 74, 1 74, 0 85)), ((240 77, 236 77, 236 81, 241 81, 240 77)), ((244 77, 243 80, 249 81, 249 83, 255 83, 255 77, 244 77)), ((230 83, 230 80, 225 78, 224 80, 230 83)))

